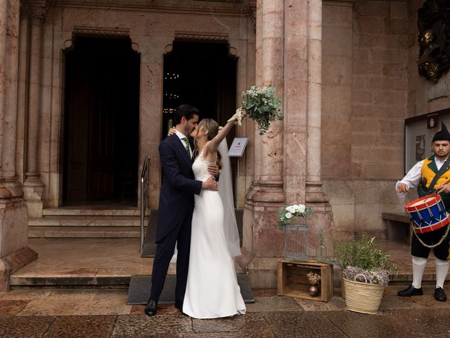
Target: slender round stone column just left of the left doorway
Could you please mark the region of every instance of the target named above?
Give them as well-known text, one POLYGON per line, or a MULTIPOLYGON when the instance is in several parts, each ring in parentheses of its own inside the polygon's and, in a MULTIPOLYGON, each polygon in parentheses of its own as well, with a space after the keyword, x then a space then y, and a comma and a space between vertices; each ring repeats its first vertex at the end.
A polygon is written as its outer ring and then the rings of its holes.
POLYGON ((41 46, 42 25, 44 23, 44 8, 32 8, 30 16, 30 75, 28 94, 27 121, 27 171, 23 190, 27 200, 28 215, 41 217, 44 182, 39 177, 38 145, 39 145, 39 115, 41 98, 41 46))

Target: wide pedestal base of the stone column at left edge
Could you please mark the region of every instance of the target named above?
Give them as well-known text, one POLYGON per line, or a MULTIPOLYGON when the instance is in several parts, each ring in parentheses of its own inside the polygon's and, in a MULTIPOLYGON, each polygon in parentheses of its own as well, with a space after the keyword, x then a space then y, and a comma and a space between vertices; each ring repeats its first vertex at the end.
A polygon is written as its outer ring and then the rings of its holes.
POLYGON ((37 259, 28 246, 27 206, 22 198, 0 199, 0 291, 6 291, 9 276, 37 259))

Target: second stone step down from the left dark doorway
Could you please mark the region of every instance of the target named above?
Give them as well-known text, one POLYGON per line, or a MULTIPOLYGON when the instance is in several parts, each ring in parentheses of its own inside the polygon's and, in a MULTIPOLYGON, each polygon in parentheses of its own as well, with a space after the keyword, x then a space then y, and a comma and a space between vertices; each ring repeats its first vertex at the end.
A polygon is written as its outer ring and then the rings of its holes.
MULTIPOLYGON (((146 217, 148 223, 148 217, 146 217)), ((141 225, 139 216, 45 216, 29 218, 30 227, 136 227, 141 225)))

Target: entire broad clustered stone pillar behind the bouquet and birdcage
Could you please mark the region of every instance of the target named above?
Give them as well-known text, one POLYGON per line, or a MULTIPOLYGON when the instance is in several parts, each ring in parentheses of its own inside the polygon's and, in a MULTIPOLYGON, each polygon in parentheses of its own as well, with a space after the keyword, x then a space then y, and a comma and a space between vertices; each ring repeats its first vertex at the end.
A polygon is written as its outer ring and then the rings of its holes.
POLYGON ((277 87, 285 119, 255 137, 257 169, 244 212, 244 246, 254 255, 248 264, 252 287, 276 286, 276 262, 283 256, 279 208, 294 203, 314 208, 309 256, 319 242, 317 229, 329 234, 333 227, 321 182, 321 4, 257 1, 256 84, 277 87))

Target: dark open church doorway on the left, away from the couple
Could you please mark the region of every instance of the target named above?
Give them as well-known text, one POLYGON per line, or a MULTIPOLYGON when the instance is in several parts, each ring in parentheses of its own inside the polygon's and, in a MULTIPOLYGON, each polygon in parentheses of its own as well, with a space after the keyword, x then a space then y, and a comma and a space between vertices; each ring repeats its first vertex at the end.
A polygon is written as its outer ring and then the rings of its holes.
POLYGON ((137 204, 139 72, 130 39, 77 37, 66 54, 65 205, 137 204))

